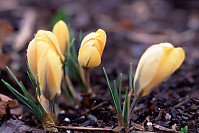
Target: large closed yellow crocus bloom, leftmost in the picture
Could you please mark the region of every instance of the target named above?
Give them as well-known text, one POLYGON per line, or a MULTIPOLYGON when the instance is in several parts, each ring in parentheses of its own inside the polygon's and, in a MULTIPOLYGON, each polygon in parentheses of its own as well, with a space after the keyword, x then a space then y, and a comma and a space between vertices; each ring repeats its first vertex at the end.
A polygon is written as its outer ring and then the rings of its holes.
POLYGON ((53 100, 61 93, 62 63, 49 40, 35 37, 28 46, 27 58, 34 78, 39 80, 41 94, 48 100, 53 100))

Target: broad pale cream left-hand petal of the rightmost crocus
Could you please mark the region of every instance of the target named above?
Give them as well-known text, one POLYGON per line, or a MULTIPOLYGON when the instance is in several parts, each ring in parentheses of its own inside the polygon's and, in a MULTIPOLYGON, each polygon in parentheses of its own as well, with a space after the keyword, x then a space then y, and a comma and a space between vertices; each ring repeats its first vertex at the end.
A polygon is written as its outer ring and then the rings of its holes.
POLYGON ((149 47, 142 55, 134 78, 134 89, 141 95, 144 89, 153 80, 162 58, 163 49, 159 45, 149 47))

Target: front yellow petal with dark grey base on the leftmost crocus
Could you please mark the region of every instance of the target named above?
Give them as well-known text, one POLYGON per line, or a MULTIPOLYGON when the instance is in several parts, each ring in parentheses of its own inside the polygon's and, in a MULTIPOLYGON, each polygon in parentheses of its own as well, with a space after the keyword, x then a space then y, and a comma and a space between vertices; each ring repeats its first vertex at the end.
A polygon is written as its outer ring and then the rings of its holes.
POLYGON ((37 45, 37 51, 43 50, 40 53, 37 67, 41 93, 46 99, 53 100, 56 95, 60 95, 61 93, 62 63, 53 48, 49 46, 44 50, 40 46, 48 45, 42 41, 38 43, 44 43, 37 45))

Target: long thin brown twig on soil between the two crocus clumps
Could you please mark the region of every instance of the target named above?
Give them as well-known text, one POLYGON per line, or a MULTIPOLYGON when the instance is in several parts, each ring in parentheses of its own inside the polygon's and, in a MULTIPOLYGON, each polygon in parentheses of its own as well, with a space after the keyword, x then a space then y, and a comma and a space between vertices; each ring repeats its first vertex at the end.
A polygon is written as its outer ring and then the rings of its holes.
POLYGON ((108 128, 92 128, 92 127, 73 127, 73 126, 55 126, 59 129, 66 129, 66 130, 77 130, 77 131, 95 131, 95 132, 109 132, 113 133, 113 129, 108 128))

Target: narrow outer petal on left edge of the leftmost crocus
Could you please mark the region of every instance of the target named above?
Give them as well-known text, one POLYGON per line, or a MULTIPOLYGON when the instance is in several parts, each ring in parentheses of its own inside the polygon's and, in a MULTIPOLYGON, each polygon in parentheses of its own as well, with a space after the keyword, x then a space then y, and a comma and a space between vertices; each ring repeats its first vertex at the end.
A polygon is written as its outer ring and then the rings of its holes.
POLYGON ((28 64, 30 67, 30 70, 34 76, 34 78, 37 78, 37 52, 35 47, 35 39, 30 41, 27 49, 27 59, 28 64))

